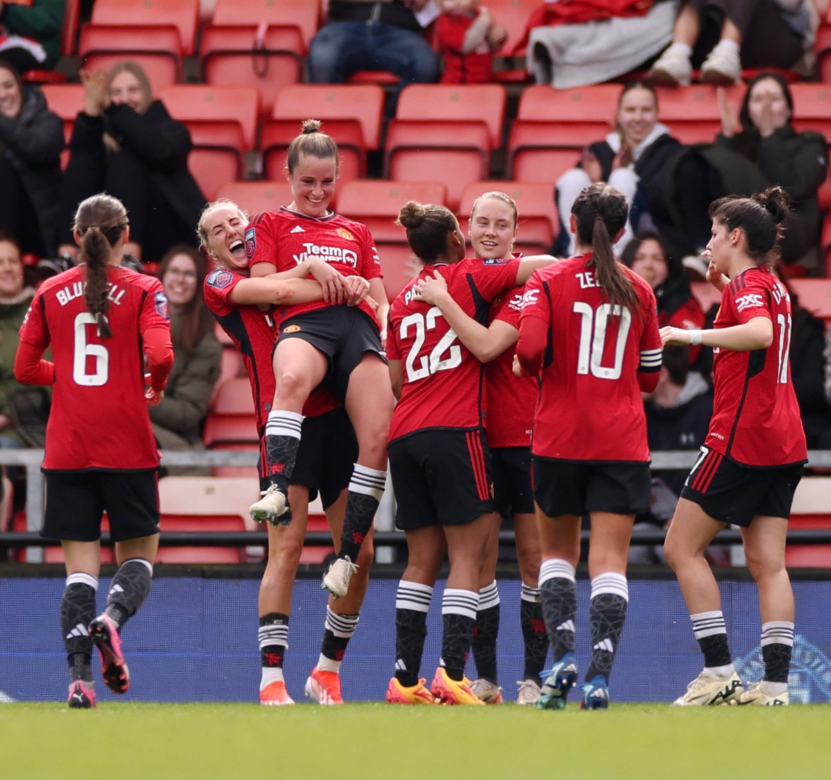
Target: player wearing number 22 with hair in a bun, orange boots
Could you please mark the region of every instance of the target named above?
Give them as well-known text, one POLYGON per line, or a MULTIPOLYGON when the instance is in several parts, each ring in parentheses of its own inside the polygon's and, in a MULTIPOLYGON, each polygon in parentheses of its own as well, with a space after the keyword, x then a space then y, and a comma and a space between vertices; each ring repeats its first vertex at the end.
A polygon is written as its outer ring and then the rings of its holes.
POLYGON ((479 578, 496 524, 490 452, 482 430, 482 364, 456 338, 417 285, 437 266, 450 294, 486 319, 496 296, 523 284, 542 259, 462 260, 465 238, 450 210, 409 201, 398 217, 425 264, 390 310, 388 354, 398 404, 390 428, 390 467, 406 532, 408 562, 396 596, 396 674, 386 700, 480 704, 465 679, 479 609, 479 578), (442 596, 441 663, 428 692, 418 677, 426 613, 445 549, 450 574, 442 596), (430 696, 432 694, 432 697, 430 696))

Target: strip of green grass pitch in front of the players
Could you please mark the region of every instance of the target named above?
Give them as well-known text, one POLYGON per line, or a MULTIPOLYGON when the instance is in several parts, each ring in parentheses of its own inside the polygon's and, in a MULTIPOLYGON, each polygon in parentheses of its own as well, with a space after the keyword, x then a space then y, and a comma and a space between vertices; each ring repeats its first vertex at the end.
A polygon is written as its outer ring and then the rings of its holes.
POLYGON ((0 704, 0 777, 822 778, 831 708, 0 704))

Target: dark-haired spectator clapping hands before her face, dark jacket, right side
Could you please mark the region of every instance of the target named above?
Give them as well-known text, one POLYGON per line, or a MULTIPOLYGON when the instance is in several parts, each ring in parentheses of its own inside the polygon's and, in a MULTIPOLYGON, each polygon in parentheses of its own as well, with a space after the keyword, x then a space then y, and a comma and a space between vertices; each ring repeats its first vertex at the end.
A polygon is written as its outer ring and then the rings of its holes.
POLYGON ((799 275, 819 273, 822 214, 817 193, 828 174, 824 136, 794 130, 794 98, 779 73, 760 73, 750 80, 739 121, 723 90, 719 106, 721 133, 716 146, 750 160, 759 170, 761 187, 779 185, 790 196, 791 211, 779 246, 782 262, 799 275))

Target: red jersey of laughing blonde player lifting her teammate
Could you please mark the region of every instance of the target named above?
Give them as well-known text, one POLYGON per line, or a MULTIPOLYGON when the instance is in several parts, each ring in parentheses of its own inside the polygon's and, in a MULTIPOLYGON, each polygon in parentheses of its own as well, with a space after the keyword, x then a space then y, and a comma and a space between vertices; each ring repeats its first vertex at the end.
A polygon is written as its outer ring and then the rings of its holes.
MULTIPOLYGON (((229 269, 216 269, 205 277, 204 299, 219 326, 228 333, 243 357, 257 414, 257 430, 262 435, 276 388, 271 361, 274 320, 271 313, 263 312, 257 306, 231 303, 231 291, 240 279, 247 278, 229 269)), ((308 397, 303 414, 315 417, 341 405, 334 392, 318 388, 308 397)))

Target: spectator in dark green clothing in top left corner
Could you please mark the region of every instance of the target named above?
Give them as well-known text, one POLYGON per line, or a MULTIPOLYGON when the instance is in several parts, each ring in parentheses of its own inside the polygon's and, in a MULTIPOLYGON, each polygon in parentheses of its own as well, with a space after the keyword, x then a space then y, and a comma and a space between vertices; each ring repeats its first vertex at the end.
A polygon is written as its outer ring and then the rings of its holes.
POLYGON ((0 57, 19 73, 55 67, 65 6, 64 0, 0 0, 0 57))

